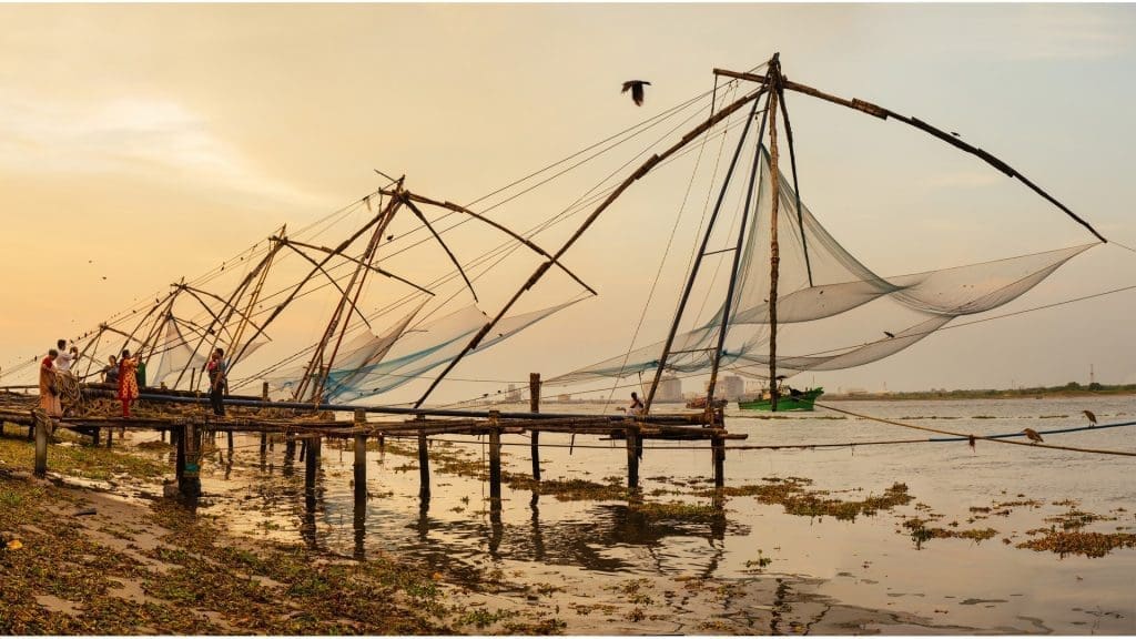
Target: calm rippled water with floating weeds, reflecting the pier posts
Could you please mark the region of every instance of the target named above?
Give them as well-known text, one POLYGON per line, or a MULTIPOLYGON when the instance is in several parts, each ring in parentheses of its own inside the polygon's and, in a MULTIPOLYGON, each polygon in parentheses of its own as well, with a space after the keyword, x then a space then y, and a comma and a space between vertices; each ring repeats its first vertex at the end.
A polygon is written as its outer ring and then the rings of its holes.
MULTIPOLYGON (((1136 397, 833 405, 964 434, 1020 432, 1024 428, 1044 433, 1085 425, 1084 408, 1096 413, 1101 424, 1136 420, 1136 397)), ((557 406, 546 409, 554 412, 557 406)), ((573 413, 599 410, 585 405, 569 408, 573 413)), ((746 433, 749 439, 728 446, 939 437, 868 420, 834 417, 841 415, 822 409, 779 418, 729 410, 729 431, 746 433)), ((1046 443, 1136 450, 1136 426, 1044 437, 1046 443)), ((401 441, 403 447, 414 446, 414 440, 401 441)), ((528 439, 506 435, 503 441, 506 470, 527 474, 528 439)), ((216 443, 224 448, 223 435, 216 443)), ((391 450, 368 453, 370 498, 357 511, 352 453, 325 443, 316 493, 306 498, 303 465, 284 464, 282 443, 261 459, 258 443, 259 437, 237 437, 231 462, 224 453, 209 456, 207 462, 211 463, 203 465, 202 512, 225 515, 223 520, 239 532, 303 539, 345 556, 393 553, 420 561, 459 582, 501 574, 513 581, 586 592, 598 590, 594 584, 641 578, 666 584, 692 578, 752 583, 745 580, 780 576, 809 583, 809 591, 825 600, 922 620, 912 625, 900 617, 872 617, 883 621, 855 629, 821 623, 813 632, 924 633, 942 626, 939 631, 950 632, 1136 633, 1136 550, 1117 549, 1102 558, 1087 558, 1016 548, 1030 539, 1028 530, 1050 528, 1053 524, 1045 522, 1046 517, 1069 511, 1071 506, 1055 504, 1064 500, 1076 501, 1080 511, 1111 517, 1086 530, 1133 532, 1136 482, 1131 457, 989 441, 978 441, 974 450, 964 441, 729 450, 726 483, 730 487, 761 483, 770 476, 801 476, 813 480, 813 489, 862 499, 902 482, 914 500, 894 512, 849 522, 793 516, 780 506, 736 497, 727 501, 725 520, 705 523, 649 522, 624 501, 534 498, 529 491, 508 486, 502 489, 498 515, 488 512, 486 482, 440 472, 436 463, 432 464, 433 498, 424 511, 419 508, 416 459, 391 450), (993 507, 996 513, 1001 503, 1025 499, 1041 505, 1014 506, 1001 515, 970 509, 993 507), (958 522, 960 530, 988 526, 997 534, 982 542, 930 539, 917 543, 901 522, 929 514, 942 515, 935 522, 938 526, 958 522), (762 563, 768 559, 767 565, 758 565, 759 558, 762 563)), ((543 479, 626 481, 621 441, 577 437, 571 450, 568 443, 568 435, 542 434, 543 479)), ((487 467, 483 441, 448 435, 437 438, 433 446, 461 451, 487 467)), ((690 495, 692 487, 705 488, 712 478, 710 453, 703 442, 649 440, 640 475, 648 500, 709 503, 690 495), (653 495, 663 490, 685 495, 653 495)), ((825 609, 818 615, 826 614, 825 609)), ((696 607, 690 612, 700 614, 696 607)), ((568 612, 561 616, 568 617, 567 631, 574 633, 700 632, 696 625, 611 625, 610 619, 605 622, 568 612)), ((776 625, 765 630, 793 631, 776 625)))

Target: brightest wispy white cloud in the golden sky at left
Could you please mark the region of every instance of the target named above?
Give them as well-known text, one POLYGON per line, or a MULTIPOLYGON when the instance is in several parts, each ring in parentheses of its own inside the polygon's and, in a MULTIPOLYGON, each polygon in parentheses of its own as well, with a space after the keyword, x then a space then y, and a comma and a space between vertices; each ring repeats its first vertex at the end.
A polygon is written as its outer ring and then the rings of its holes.
POLYGON ((310 193, 268 176, 182 105, 124 98, 80 106, 0 97, 0 167, 42 174, 122 174, 304 205, 310 193))

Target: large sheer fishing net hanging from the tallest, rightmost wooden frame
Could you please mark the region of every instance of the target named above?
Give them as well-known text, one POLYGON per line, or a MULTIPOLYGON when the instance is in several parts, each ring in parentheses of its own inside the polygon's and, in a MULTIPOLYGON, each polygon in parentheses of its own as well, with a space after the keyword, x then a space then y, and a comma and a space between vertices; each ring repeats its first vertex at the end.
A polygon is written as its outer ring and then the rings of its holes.
MULTIPOLYGON (((746 223, 736 287, 728 307, 721 366, 745 376, 766 379, 772 197, 769 153, 763 147, 759 163, 753 193, 757 206, 746 223)), ((884 277, 844 249, 803 202, 797 207, 796 193, 784 174, 779 173, 778 180, 776 365, 779 374, 850 368, 894 355, 955 317, 985 313, 1017 299, 1062 264, 1095 246, 884 277), (819 346, 825 335, 829 340, 838 335, 842 346, 819 346)), ((676 334, 666 371, 677 374, 710 371, 727 306, 722 301, 717 308, 709 318, 676 334)), ((641 347, 545 383, 569 385, 653 372, 663 346, 659 341, 641 347)))

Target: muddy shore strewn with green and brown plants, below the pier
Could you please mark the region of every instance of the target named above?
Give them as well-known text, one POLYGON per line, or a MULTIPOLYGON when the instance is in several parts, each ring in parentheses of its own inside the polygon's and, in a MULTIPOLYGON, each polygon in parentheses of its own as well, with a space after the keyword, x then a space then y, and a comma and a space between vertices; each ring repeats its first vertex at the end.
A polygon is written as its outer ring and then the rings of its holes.
POLYGON ((195 516, 161 497, 168 473, 153 464, 152 449, 65 446, 68 455, 56 455, 57 470, 40 480, 30 473, 30 458, 20 457, 31 445, 12 429, 0 441, 0 532, 23 546, 0 551, 6 634, 975 630, 844 605, 818 594, 821 580, 791 574, 628 578, 561 570, 542 581, 496 571, 470 580, 465 572, 424 572, 396 553, 369 553, 359 562, 234 534, 219 521, 195 516))

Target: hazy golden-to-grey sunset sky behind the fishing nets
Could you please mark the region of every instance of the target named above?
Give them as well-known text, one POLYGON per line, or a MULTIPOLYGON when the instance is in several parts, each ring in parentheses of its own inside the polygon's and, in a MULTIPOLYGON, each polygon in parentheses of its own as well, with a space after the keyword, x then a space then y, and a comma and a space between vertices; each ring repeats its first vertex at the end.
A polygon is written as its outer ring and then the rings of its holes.
MULTIPOLYGON (((0 23, 3 370, 281 224, 357 200, 382 185, 374 168, 470 202, 710 90, 715 67, 749 69, 775 51, 790 78, 959 132, 1136 246, 1130 5, 2 5, 0 23), (630 78, 652 82, 643 107, 619 93, 630 78)), ((882 273, 1093 241, 910 127, 791 99, 810 208, 882 273)), ((603 231, 642 221, 644 202, 612 210, 603 231)), ((627 235, 646 244, 669 230, 627 235)), ((657 264, 601 267, 610 251, 568 254, 602 301, 518 338, 494 374, 551 376, 626 349, 643 304, 627 291, 657 264), (610 339, 586 355, 566 346, 598 313, 610 339)), ((1128 285, 1136 252, 1106 244, 1006 309, 1128 285)), ((1087 383, 1092 366, 1099 382, 1136 383, 1134 315, 1136 291, 1120 292, 804 379, 1052 385, 1087 383)))

